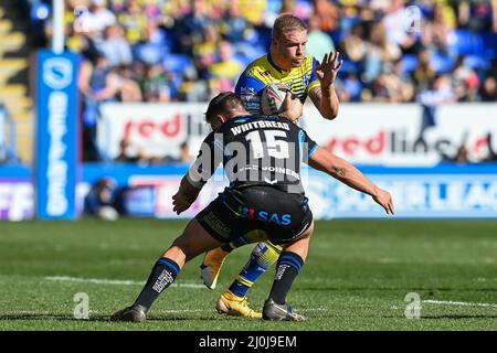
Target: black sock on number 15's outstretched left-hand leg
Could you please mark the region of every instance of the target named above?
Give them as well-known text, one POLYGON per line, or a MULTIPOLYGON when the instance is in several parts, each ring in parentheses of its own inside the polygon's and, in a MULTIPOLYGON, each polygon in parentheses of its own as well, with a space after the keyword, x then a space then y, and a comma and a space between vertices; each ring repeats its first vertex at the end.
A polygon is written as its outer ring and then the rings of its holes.
POLYGON ((169 258, 160 258, 154 266, 144 289, 135 301, 147 312, 159 295, 168 288, 178 277, 180 268, 177 263, 169 258))

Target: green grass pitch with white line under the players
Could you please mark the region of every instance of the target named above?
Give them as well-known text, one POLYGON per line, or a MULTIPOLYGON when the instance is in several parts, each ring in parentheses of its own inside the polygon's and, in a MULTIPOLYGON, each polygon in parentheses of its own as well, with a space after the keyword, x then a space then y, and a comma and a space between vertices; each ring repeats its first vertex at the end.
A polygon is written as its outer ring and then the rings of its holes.
MULTIPOLYGON (((252 246, 228 258, 218 288, 202 288, 195 258, 144 324, 113 323, 186 221, 0 223, 0 330, 497 330, 497 222, 317 222, 288 296, 307 322, 220 315, 214 302, 252 246), (87 293, 89 319, 74 296, 87 293), (421 318, 406 319, 416 292, 421 318)), ((248 293, 262 308, 274 267, 248 293)))

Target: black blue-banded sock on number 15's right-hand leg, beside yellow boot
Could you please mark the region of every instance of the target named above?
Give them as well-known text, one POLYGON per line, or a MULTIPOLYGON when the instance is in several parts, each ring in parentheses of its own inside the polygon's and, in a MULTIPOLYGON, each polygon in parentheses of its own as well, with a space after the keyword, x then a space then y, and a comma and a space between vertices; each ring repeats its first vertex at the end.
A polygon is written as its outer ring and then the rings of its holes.
POLYGON ((304 260, 298 254, 283 252, 276 266, 276 276, 273 288, 271 288, 269 298, 277 304, 286 302, 286 295, 292 288, 292 284, 304 266, 304 260))

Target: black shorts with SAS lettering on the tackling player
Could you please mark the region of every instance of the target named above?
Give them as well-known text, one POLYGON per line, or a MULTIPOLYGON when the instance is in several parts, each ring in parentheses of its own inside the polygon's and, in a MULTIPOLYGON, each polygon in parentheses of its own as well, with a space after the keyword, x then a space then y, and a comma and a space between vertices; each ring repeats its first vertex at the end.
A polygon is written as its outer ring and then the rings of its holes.
POLYGON ((195 218, 221 243, 262 231, 273 244, 285 244, 307 231, 313 213, 305 195, 257 185, 224 190, 195 218))

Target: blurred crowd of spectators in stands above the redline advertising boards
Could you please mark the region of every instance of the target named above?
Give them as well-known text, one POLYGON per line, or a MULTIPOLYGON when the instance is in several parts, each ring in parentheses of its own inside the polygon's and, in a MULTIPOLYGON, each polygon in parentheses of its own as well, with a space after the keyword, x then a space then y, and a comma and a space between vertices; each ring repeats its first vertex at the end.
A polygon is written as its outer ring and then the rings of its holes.
POLYGON ((495 0, 66 3, 66 46, 85 58, 78 85, 88 125, 102 101, 207 101, 232 90, 244 67, 267 53, 283 12, 308 23, 308 54, 342 54, 341 103, 497 100, 495 0))

